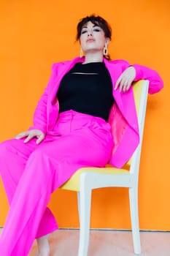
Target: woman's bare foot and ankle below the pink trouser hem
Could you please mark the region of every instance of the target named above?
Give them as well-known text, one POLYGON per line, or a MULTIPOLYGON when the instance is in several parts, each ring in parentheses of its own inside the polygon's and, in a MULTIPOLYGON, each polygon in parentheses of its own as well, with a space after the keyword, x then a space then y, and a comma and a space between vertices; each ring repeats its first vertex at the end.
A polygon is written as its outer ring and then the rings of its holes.
POLYGON ((50 244, 47 236, 37 238, 38 254, 36 256, 50 256, 50 244))

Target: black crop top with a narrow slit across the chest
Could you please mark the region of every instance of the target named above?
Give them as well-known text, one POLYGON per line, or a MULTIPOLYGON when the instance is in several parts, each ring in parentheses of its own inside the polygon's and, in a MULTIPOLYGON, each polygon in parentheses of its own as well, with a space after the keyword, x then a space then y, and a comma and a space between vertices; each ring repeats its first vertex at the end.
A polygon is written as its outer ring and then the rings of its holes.
POLYGON ((107 121, 114 98, 112 80, 105 64, 75 64, 61 80, 57 97, 60 113, 72 109, 107 121))

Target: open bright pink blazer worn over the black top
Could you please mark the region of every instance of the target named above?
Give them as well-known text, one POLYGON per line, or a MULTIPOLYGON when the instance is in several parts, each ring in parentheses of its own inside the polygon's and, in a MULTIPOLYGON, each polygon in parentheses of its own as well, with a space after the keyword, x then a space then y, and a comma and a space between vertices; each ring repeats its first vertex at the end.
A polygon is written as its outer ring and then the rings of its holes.
MULTIPOLYGON (((58 99, 56 94, 61 79, 66 72, 77 62, 83 62, 83 58, 75 58, 72 61, 63 61, 52 66, 52 75, 47 84, 44 94, 39 99, 34 112, 34 127, 31 129, 40 129, 45 134, 53 135, 53 127, 58 118, 58 99)), ((109 114, 109 124, 112 127, 114 147, 109 163, 115 167, 122 167, 131 157, 139 144, 139 127, 136 116, 133 89, 128 92, 115 91, 114 86, 121 73, 130 66, 127 61, 107 61, 104 63, 109 70, 112 78, 112 94, 116 104, 112 107, 109 114)), ((149 93, 154 94, 163 88, 163 81, 157 72, 144 66, 134 64, 136 69, 136 78, 134 80, 150 80, 149 93)))

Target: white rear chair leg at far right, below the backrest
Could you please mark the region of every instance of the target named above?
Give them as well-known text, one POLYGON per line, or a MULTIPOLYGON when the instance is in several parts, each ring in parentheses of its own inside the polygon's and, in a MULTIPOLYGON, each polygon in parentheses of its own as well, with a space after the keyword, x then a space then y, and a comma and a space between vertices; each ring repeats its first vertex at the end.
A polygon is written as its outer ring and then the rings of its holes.
POLYGON ((131 227, 134 242, 134 253, 141 254, 141 242, 139 233, 139 214, 138 214, 138 190, 137 188, 129 188, 129 200, 131 211, 131 227))

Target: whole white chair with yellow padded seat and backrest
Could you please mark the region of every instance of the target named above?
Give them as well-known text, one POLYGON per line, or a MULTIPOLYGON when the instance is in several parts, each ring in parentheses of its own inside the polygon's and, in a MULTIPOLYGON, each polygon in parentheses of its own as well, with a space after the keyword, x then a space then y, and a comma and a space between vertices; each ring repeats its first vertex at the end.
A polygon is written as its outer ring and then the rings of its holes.
POLYGON ((104 168, 83 167, 77 170, 69 181, 66 181, 66 183, 61 186, 61 189, 77 191, 80 217, 80 244, 78 256, 88 255, 91 191, 92 189, 101 187, 128 187, 134 252, 136 254, 141 253, 138 216, 138 178, 148 85, 149 82, 147 80, 140 80, 134 83, 133 86, 139 120, 140 143, 127 163, 129 170, 127 170, 127 168, 118 169, 110 165, 104 168))

